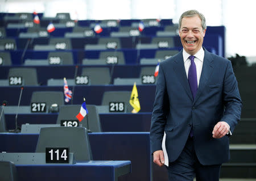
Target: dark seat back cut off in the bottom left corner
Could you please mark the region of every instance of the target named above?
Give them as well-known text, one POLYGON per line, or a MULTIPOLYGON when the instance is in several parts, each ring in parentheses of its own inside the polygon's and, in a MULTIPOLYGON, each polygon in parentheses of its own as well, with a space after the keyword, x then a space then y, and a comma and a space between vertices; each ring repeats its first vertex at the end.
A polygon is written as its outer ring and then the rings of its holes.
POLYGON ((0 180, 1 181, 17 181, 17 171, 13 162, 0 161, 0 180))

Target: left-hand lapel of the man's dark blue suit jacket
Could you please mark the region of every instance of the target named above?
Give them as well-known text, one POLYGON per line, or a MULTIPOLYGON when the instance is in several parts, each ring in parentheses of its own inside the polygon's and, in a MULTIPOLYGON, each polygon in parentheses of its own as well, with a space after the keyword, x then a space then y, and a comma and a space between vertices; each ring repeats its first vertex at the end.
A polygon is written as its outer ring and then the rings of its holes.
POLYGON ((183 61, 183 54, 182 50, 177 54, 174 60, 174 71, 177 75, 177 79, 179 79, 179 82, 184 87, 185 91, 187 92, 189 98, 193 100, 192 93, 188 84, 188 78, 184 67, 184 61, 183 61))

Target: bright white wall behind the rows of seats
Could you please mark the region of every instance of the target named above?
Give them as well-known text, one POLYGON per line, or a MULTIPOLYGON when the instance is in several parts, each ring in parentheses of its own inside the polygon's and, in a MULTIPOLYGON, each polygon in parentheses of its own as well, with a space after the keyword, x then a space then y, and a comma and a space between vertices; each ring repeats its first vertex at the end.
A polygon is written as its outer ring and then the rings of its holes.
POLYGON ((69 12, 72 19, 173 19, 185 10, 196 9, 207 26, 226 27, 226 57, 238 53, 256 56, 254 1, 251 0, 0 0, 2 12, 44 12, 55 16, 69 12))

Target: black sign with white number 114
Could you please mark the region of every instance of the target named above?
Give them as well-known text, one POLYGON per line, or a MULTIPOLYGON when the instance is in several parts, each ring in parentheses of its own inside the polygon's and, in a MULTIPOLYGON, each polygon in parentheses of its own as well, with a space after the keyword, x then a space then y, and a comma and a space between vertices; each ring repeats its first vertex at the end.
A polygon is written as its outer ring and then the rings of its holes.
POLYGON ((46 163, 69 163, 69 148, 46 148, 46 163))

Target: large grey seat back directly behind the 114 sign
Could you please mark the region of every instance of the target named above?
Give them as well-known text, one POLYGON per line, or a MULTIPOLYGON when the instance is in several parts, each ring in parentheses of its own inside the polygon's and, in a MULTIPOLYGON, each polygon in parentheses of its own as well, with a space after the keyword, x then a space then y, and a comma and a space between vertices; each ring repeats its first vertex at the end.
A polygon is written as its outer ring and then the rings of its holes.
POLYGON ((77 161, 92 160, 88 134, 83 127, 41 128, 35 152, 44 153, 46 147, 68 147, 77 161))

